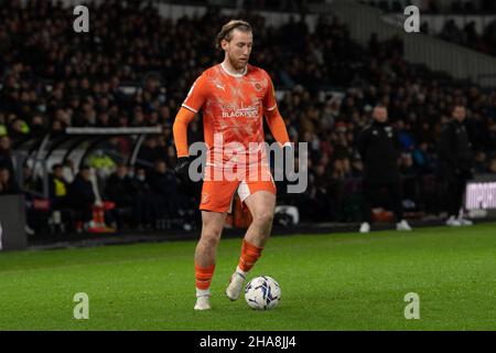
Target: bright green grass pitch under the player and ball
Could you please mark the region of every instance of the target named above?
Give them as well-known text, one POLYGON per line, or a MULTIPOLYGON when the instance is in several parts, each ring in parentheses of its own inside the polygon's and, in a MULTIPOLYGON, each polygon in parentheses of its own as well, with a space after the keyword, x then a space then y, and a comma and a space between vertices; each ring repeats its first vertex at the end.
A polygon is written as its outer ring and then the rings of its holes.
POLYGON ((496 224, 412 233, 273 237, 266 274, 280 306, 254 311, 224 290, 240 239, 224 239, 213 310, 195 312, 195 242, 0 253, 1 330, 495 330, 496 224), (89 320, 75 320, 76 292, 89 320), (406 320, 405 295, 420 297, 406 320))

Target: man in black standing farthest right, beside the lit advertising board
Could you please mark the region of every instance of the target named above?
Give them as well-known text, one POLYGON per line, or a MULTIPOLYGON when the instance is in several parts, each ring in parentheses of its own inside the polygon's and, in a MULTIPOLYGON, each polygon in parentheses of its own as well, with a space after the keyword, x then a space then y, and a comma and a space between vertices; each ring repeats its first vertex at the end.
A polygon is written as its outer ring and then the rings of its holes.
POLYGON ((463 217, 462 210, 466 182, 473 178, 472 145, 464 125, 465 107, 454 106, 452 117, 442 130, 438 154, 438 176, 448 183, 446 225, 472 225, 471 221, 463 217))

